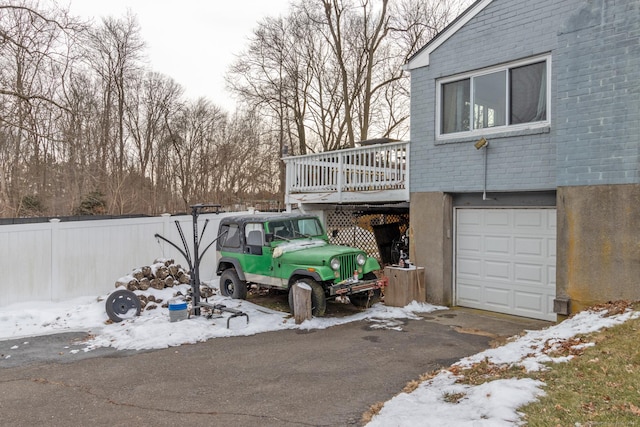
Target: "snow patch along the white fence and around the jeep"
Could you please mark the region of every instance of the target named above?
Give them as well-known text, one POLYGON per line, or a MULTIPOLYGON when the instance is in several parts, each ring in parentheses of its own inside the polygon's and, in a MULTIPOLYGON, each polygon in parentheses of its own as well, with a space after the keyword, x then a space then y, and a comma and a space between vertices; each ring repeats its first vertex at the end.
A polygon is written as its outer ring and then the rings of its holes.
MULTIPOLYGON (((216 288, 217 281, 210 284, 216 288)), ((174 298, 176 292, 187 294, 189 285, 147 291, 136 294, 153 295, 162 299, 163 304, 174 298)), ((28 302, 0 308, 0 340, 61 332, 85 331, 92 335, 83 351, 97 347, 113 347, 119 350, 146 350, 167 348, 181 344, 192 344, 211 338, 254 335, 281 329, 326 329, 332 326, 359 320, 371 320, 376 324, 393 319, 413 318, 414 313, 428 313, 444 307, 431 304, 412 303, 404 308, 387 307, 377 304, 356 315, 344 318, 314 318, 301 325, 288 313, 270 310, 249 301, 234 300, 221 296, 209 298, 209 303, 223 304, 228 308, 241 310, 249 316, 230 320, 229 314, 208 319, 206 316, 191 316, 189 319, 171 322, 169 310, 156 304, 156 309, 143 310, 139 317, 110 323, 105 310, 108 294, 99 298, 83 297, 58 303, 28 302)), ((10 356, 10 355, 5 355, 10 356)))

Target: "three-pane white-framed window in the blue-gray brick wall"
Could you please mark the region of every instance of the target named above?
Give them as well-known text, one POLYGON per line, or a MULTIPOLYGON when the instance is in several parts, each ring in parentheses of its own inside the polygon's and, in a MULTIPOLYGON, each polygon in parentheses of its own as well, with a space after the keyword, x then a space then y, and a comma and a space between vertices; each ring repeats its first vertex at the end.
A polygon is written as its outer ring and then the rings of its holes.
POLYGON ((546 122, 547 60, 440 84, 440 135, 546 122))

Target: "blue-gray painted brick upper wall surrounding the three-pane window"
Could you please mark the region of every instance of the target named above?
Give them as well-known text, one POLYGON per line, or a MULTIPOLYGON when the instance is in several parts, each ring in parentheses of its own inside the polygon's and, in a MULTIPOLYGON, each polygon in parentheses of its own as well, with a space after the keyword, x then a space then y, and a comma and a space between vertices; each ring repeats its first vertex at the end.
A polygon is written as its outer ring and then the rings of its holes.
POLYGON ((550 126, 486 135, 487 190, 639 182, 639 7, 494 0, 411 72, 411 191, 483 189, 478 138, 435 140, 437 79, 548 53, 550 126))

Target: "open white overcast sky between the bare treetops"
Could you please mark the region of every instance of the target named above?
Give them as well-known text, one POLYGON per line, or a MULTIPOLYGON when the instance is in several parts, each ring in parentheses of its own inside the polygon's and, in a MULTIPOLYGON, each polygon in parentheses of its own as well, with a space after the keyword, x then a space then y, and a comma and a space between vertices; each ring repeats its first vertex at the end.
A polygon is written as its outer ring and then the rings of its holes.
POLYGON ((68 0, 73 15, 100 22, 138 17, 153 71, 166 74, 195 99, 205 96, 227 110, 235 102, 224 74, 247 44, 257 22, 285 14, 290 0, 68 0))

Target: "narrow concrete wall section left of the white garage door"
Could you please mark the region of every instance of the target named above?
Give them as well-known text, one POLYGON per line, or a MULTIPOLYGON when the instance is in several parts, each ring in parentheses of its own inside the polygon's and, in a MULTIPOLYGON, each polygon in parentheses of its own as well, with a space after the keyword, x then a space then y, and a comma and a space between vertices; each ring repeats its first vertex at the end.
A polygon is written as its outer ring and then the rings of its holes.
POLYGON ((425 267, 427 301, 453 302, 453 207, 450 195, 411 194, 409 258, 425 267))

